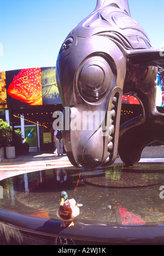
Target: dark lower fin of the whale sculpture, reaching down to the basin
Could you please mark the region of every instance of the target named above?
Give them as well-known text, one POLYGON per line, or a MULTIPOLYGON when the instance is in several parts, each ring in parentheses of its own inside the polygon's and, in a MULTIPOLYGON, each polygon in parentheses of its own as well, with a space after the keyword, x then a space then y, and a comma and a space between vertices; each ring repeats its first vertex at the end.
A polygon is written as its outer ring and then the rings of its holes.
MULTIPOLYGON (((157 116, 156 116, 157 117, 157 116)), ((139 117, 120 126, 118 152, 126 166, 136 164, 142 155, 143 149, 154 141, 164 143, 163 116, 156 120, 148 120, 142 123, 139 117)))

